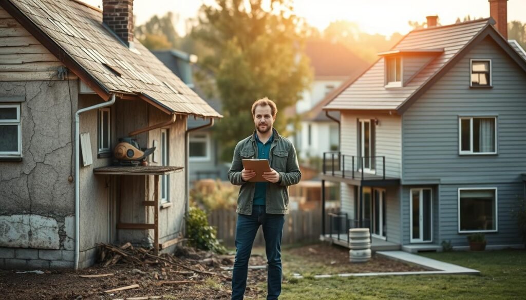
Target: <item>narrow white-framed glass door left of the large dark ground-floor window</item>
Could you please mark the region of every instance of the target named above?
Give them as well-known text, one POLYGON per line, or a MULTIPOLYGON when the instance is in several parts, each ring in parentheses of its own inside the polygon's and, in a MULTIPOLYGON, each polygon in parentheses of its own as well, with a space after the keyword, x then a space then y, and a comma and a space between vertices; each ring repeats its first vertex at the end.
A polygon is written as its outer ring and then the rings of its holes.
POLYGON ((429 243, 433 240, 431 189, 411 189, 410 194, 410 241, 411 243, 429 243))

